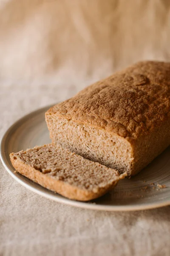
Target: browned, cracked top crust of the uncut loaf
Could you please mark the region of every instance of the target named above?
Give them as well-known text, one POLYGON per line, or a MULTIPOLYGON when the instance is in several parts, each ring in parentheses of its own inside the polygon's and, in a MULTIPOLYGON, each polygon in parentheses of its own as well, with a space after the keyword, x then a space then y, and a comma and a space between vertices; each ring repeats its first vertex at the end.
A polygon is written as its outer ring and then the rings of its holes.
POLYGON ((170 63, 138 62, 55 105, 48 114, 137 138, 170 117, 170 63))

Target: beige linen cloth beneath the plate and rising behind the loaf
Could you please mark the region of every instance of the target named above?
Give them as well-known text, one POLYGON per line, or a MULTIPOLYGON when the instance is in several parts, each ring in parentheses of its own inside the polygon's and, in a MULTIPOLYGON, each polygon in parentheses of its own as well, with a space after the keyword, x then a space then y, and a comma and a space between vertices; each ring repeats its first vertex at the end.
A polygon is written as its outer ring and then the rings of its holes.
MULTIPOLYGON (((170 60, 169 0, 1 0, 0 136, 30 111, 141 59, 170 60)), ((0 256, 170 255, 170 207, 77 209, 0 163, 0 256)))

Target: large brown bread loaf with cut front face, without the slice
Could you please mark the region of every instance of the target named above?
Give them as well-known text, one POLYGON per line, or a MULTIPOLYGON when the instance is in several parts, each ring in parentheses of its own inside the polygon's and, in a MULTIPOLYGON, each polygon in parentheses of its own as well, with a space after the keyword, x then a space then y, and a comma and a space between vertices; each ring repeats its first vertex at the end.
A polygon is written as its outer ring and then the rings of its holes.
POLYGON ((134 64, 45 116, 56 145, 135 175, 170 145, 170 63, 134 64))

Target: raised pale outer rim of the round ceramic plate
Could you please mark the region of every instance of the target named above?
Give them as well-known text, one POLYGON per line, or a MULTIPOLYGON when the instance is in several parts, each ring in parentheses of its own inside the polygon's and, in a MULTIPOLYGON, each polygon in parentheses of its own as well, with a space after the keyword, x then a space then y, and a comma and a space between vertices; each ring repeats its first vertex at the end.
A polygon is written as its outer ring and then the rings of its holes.
MULTIPOLYGON (((57 103, 56 103, 57 104, 57 103)), ((53 104, 54 105, 54 104, 53 104)), ((12 125, 10 125, 5 133, 3 134, 1 141, 0 141, 0 160, 3 163, 3 166, 5 167, 6 171, 11 175, 11 177, 14 178, 18 183, 26 187, 27 189, 31 190, 32 192, 37 193, 38 195, 41 195, 45 198, 51 199, 53 201, 57 201, 62 204, 67 204, 71 205, 74 207, 79 207, 79 208, 84 208, 84 209, 94 209, 94 210, 100 210, 100 211, 138 211, 138 210, 145 210, 145 209, 154 209, 154 208, 159 208, 159 207, 164 207, 170 205, 170 200, 165 200, 163 202, 158 202, 158 203, 147 203, 147 204, 141 204, 141 205, 135 205, 132 204, 131 206, 128 205, 117 205, 117 206, 112 206, 112 205, 102 205, 102 204, 95 204, 94 202, 81 202, 81 201, 75 201, 71 200, 68 198, 63 197, 62 195, 57 196, 57 193, 48 194, 48 189, 45 189, 45 191, 41 191, 34 185, 34 181, 29 180, 29 183, 26 183, 22 177, 25 177, 20 174, 15 174, 14 173, 14 168, 11 167, 10 163, 8 162, 8 159, 6 158, 6 151, 5 151, 5 144, 6 144, 6 138, 10 134, 10 132, 20 123, 24 122, 25 119, 28 119, 29 116, 34 116, 35 114, 38 114, 39 112, 43 112, 47 110, 48 108, 51 108, 53 105, 47 105, 42 108, 37 108, 34 111, 31 111, 30 113, 22 116, 20 119, 17 119, 12 125)), ((35 183, 37 184, 37 183, 35 183)))

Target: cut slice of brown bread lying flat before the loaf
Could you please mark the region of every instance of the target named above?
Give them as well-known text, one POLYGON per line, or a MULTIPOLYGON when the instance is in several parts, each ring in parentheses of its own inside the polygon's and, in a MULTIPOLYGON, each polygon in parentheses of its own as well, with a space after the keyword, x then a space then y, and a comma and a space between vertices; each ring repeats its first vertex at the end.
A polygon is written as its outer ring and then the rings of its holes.
POLYGON ((79 201, 104 195, 126 176, 52 144, 11 153, 10 158, 20 174, 79 201))

